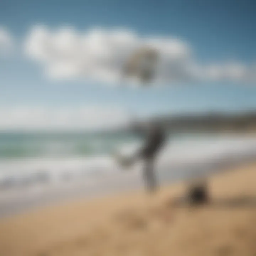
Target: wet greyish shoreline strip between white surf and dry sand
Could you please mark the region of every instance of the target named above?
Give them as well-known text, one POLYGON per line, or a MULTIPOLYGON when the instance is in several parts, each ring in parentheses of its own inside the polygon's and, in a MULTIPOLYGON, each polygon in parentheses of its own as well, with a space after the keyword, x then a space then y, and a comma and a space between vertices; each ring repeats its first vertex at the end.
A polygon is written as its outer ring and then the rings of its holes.
MULTIPOLYGON (((175 166, 171 171, 169 166, 158 170, 158 178, 160 185, 175 186, 176 183, 185 183, 193 178, 211 177, 218 173, 232 170, 234 167, 243 166, 255 162, 255 153, 240 155, 240 158, 222 158, 215 159, 211 162, 201 162, 199 164, 190 165, 179 169, 175 166)), ((114 176, 108 174, 103 176, 95 183, 66 183, 64 186, 44 187, 42 190, 16 190, 5 194, 2 191, 0 194, 0 220, 1 218, 15 216, 18 214, 30 212, 37 208, 54 206, 54 204, 72 202, 76 199, 94 199, 104 195, 111 196, 115 193, 133 192, 134 190, 143 190, 144 184, 142 180, 141 170, 135 172, 126 172, 119 170, 114 173, 114 176)))

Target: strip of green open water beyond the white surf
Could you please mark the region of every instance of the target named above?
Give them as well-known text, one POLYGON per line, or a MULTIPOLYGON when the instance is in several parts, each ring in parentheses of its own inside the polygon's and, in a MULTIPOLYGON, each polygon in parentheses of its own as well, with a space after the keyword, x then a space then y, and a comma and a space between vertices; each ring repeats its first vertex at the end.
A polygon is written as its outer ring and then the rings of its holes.
POLYGON ((0 159, 94 156, 139 138, 116 133, 0 133, 0 159))

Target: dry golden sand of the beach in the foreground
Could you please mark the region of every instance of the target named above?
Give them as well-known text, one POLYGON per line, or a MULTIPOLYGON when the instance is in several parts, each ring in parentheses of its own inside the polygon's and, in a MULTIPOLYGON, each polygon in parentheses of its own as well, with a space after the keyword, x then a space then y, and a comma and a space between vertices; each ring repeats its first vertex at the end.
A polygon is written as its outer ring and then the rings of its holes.
POLYGON ((210 179, 211 202, 175 204, 184 184, 34 209, 0 220, 0 256, 256 255, 256 164, 210 179))

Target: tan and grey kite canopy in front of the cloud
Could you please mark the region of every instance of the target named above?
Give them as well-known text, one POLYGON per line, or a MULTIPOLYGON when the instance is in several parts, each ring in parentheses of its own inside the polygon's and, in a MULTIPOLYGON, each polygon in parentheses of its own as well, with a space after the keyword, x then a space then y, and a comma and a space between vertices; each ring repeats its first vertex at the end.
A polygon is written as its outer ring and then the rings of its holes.
POLYGON ((158 52, 150 47, 136 50, 126 62, 123 75, 126 78, 135 78, 142 83, 151 82, 156 74, 158 52))

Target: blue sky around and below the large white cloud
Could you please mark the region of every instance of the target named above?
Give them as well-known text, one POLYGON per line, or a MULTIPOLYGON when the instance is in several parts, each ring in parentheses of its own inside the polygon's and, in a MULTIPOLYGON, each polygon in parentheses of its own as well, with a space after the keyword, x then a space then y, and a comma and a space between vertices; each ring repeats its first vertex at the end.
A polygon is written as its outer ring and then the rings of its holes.
POLYGON ((0 27, 15 41, 0 58, 0 106, 114 106, 133 113, 243 111, 256 109, 256 86, 244 80, 188 80, 163 87, 105 86, 102 81, 54 80, 22 52, 31 27, 49 30, 71 25, 77 32, 93 27, 127 28, 139 36, 172 37, 186 42, 200 64, 256 60, 256 3, 239 0, 54 1, 2 0, 0 27))

